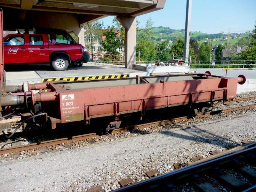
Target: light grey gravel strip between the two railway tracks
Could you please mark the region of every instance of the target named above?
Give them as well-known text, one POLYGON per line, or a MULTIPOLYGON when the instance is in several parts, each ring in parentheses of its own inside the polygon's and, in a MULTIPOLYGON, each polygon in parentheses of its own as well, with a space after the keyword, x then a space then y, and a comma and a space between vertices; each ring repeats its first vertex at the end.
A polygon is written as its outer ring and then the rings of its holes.
POLYGON ((186 165, 193 157, 256 140, 255 115, 2 163, 1 191, 87 191, 96 185, 110 191, 121 179, 145 180, 152 169, 163 174, 174 170, 174 163, 186 165))

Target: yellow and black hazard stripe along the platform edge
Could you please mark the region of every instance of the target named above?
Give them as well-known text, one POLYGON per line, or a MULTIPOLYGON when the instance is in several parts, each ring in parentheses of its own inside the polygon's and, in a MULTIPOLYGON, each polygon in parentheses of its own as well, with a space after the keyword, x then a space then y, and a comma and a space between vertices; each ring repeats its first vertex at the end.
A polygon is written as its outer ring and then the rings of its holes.
POLYGON ((114 78, 124 78, 129 75, 106 75, 106 76, 87 76, 87 77, 64 77, 64 78, 47 78, 42 79, 42 83, 48 81, 81 81, 81 80, 91 80, 91 79, 114 79, 114 78))

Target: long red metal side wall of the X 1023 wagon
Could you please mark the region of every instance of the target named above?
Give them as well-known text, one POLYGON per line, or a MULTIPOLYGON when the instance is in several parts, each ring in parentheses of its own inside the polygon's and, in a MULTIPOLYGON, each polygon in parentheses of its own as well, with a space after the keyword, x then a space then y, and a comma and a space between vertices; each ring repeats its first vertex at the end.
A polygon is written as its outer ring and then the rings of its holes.
MULTIPOLYGON (((101 87, 85 89, 77 92, 73 90, 59 91, 71 100, 80 102, 63 102, 60 98, 60 114, 62 122, 67 122, 63 114, 79 113, 78 108, 85 110, 86 117, 100 116, 108 113, 123 113, 125 111, 142 111, 147 108, 156 108, 172 104, 194 103, 211 98, 212 91, 216 98, 232 98, 236 96, 236 79, 202 79, 180 82, 162 82, 154 84, 137 84, 115 87, 101 87), (214 81, 212 81, 214 80, 214 81), (220 84, 223 86, 220 88, 220 84), (228 92, 227 92, 228 89, 228 92), (73 104, 63 108, 63 103, 73 104), (117 108, 115 107, 117 103, 117 108), (73 109, 73 110, 69 110, 73 109), (116 110, 117 109, 117 110, 116 110)), ((213 98, 214 99, 214 98, 213 98)), ((81 112, 83 112, 81 110, 81 112)))

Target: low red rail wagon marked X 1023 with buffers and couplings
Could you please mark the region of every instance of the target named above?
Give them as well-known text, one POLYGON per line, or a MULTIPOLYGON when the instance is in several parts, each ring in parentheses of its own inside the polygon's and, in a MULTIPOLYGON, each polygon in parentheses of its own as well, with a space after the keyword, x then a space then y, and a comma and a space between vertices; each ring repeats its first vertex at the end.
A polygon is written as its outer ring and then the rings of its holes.
MULTIPOLYGON (((1 31, 2 33, 2 31, 1 31)), ((0 34, 1 54, 3 38, 0 34)), ((181 74, 165 76, 129 77, 87 81, 52 81, 28 84, 31 95, 13 96, 8 92, 21 92, 22 86, 4 85, 3 54, 1 62, 1 106, 28 106, 23 116, 34 118, 46 115, 52 128, 70 122, 90 123, 90 119, 111 116, 108 129, 118 128, 122 114, 148 109, 213 102, 234 98, 237 83, 244 84, 245 77, 220 77, 210 74, 181 74), (32 112, 33 111, 33 112, 32 112), (33 116, 34 115, 34 116, 33 116)), ((2 109, 1 109, 2 110, 2 109)), ((26 120, 25 120, 26 121, 26 120)))

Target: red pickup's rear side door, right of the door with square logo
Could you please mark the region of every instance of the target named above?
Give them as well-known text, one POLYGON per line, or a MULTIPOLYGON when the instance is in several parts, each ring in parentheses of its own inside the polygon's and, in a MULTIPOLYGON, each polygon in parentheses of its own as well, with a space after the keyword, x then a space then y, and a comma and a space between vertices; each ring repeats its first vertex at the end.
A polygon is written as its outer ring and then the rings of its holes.
POLYGON ((28 41, 28 62, 49 62, 50 59, 47 36, 45 34, 29 34, 28 41))

